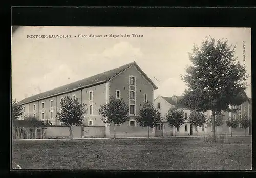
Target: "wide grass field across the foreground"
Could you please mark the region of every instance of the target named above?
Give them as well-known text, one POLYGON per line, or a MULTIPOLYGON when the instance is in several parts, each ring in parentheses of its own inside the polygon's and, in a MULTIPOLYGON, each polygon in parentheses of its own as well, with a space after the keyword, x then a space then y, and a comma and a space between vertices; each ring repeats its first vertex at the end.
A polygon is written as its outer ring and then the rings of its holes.
POLYGON ((251 137, 229 144, 197 138, 14 141, 22 169, 245 170, 251 169, 251 137))

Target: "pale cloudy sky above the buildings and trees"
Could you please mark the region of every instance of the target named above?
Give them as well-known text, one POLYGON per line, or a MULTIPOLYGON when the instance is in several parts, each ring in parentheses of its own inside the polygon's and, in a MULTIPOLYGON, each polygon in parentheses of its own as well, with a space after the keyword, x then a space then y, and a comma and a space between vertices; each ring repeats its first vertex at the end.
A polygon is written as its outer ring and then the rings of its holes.
MULTIPOLYGON (((187 88, 180 75, 190 65, 188 53, 207 36, 236 44, 236 57, 251 74, 250 28, 22 26, 11 41, 12 98, 20 101, 133 61, 158 86, 155 98, 179 96, 187 88), (61 34, 72 38, 28 37, 61 34), (90 34, 102 37, 78 37, 90 34)), ((251 97, 251 77, 247 83, 251 97)))

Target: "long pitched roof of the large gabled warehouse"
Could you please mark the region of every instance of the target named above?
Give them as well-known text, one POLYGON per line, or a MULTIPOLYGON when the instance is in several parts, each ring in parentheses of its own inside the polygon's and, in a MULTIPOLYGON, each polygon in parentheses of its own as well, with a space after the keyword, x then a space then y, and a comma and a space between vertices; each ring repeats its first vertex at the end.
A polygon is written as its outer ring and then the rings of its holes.
POLYGON ((57 96, 64 93, 69 93, 72 91, 79 90, 81 88, 87 88, 93 85, 99 85, 102 83, 106 83, 115 76, 119 75, 121 72, 126 70, 127 68, 130 68, 130 66, 134 65, 141 73, 144 75, 144 77, 153 85, 154 89, 157 89, 158 87, 153 83, 153 81, 146 76, 146 74, 141 70, 141 68, 136 64, 136 62, 131 62, 129 64, 120 66, 119 68, 112 69, 110 71, 106 71, 67 85, 63 85, 57 88, 54 88, 52 90, 39 93, 37 95, 33 95, 31 97, 25 98, 22 101, 18 102, 18 104, 26 104, 30 102, 34 102, 40 99, 49 98, 53 96, 57 96))

